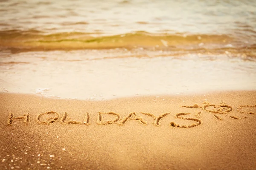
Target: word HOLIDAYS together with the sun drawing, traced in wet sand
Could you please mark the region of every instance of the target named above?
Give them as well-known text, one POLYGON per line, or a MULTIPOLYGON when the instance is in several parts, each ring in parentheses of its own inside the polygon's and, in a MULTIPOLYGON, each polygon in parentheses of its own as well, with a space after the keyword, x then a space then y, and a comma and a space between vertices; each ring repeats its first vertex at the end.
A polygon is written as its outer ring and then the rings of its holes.
MULTIPOLYGON (((181 106, 181 107, 183 107, 183 108, 199 108, 199 109, 202 109, 203 111, 206 111, 209 113, 214 113, 213 117, 215 117, 218 120, 222 120, 222 117, 220 116, 221 114, 227 114, 234 110, 232 106, 226 105, 224 102, 221 102, 220 105, 212 105, 207 102, 204 102, 203 104, 204 104, 203 106, 199 106, 199 105, 195 104, 192 106, 181 106)), ((250 112, 250 111, 246 112, 246 111, 242 110, 243 108, 253 108, 253 107, 256 108, 256 105, 239 105, 239 107, 237 107, 237 112, 244 113, 244 114, 256 114, 254 112, 250 112)), ((190 120, 190 121, 193 121, 193 123, 191 123, 189 125, 182 125, 182 124, 178 124, 178 123, 172 121, 169 123, 169 126, 170 127, 196 127, 198 125, 201 125, 202 124, 201 113, 202 113, 202 111, 196 112, 195 117, 186 117, 185 116, 185 115, 191 115, 191 113, 177 113, 174 116, 176 119, 190 120)), ((164 117, 167 117, 170 113, 163 113, 163 114, 157 116, 152 113, 132 112, 121 119, 121 116, 119 113, 99 112, 97 115, 96 123, 98 125, 111 125, 111 124, 125 125, 126 122, 133 120, 133 121, 137 121, 143 125, 148 125, 148 122, 145 121, 143 119, 143 117, 140 116, 140 114, 153 118, 153 125, 158 127, 158 126, 160 126, 160 121, 164 117), (113 116, 113 119, 105 120, 103 115, 111 115, 111 116, 113 116)), ((233 116, 233 115, 229 115, 229 117, 232 119, 236 119, 236 120, 246 118, 246 116, 237 117, 237 116, 233 116)), ((8 120, 7 120, 7 125, 12 126, 13 122, 17 121, 17 120, 22 120, 24 125, 29 125, 29 123, 30 123, 29 113, 23 114, 23 116, 19 116, 19 117, 14 117, 14 114, 10 113, 8 120)), ((40 113, 36 117, 36 122, 38 122, 38 124, 43 124, 43 125, 50 125, 55 122, 60 122, 62 124, 84 124, 84 125, 88 126, 91 124, 91 116, 89 113, 86 113, 86 114, 84 114, 83 121, 76 121, 76 120, 71 120, 68 113, 64 113, 62 116, 60 116, 59 113, 50 111, 50 112, 46 112, 46 113, 40 113), (45 118, 44 115, 47 115, 48 118, 45 118)))

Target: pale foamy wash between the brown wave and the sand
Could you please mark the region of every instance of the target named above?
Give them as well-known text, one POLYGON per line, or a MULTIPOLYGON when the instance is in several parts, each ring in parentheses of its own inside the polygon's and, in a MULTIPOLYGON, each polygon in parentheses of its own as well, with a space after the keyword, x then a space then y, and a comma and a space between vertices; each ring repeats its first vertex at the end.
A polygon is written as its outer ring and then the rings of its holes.
POLYGON ((256 90, 256 62, 145 50, 41 51, 6 55, 0 78, 2 92, 65 99, 206 94, 256 90))

